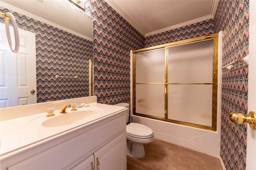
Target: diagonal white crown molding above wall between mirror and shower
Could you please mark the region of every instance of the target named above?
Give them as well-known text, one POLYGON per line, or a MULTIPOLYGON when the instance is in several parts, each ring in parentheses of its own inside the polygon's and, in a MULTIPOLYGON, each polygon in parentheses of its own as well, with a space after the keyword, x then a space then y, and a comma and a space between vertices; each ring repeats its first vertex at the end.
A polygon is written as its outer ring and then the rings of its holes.
POLYGON ((134 21, 132 21, 112 0, 105 0, 105 2, 107 2, 108 5, 110 5, 118 14, 120 14, 120 16, 122 16, 128 23, 130 23, 137 31, 139 31, 145 37, 146 33, 144 33, 144 31, 142 31, 142 29, 140 29, 140 27, 136 25, 136 23, 134 23, 134 21))

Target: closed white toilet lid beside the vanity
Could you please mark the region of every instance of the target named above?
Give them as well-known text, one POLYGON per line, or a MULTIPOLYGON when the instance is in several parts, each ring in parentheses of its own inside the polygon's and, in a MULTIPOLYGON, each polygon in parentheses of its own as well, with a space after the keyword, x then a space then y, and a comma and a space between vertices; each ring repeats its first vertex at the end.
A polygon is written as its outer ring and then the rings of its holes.
POLYGON ((126 133, 138 137, 149 137, 152 136, 153 131, 140 123, 130 123, 126 126, 126 133))

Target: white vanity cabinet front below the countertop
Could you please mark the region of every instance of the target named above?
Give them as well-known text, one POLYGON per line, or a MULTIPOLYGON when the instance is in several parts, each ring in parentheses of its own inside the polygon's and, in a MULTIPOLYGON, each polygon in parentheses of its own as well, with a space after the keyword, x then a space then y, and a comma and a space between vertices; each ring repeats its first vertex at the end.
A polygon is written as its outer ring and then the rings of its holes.
POLYGON ((125 111, 41 143, 1 160, 1 170, 126 170, 125 111))

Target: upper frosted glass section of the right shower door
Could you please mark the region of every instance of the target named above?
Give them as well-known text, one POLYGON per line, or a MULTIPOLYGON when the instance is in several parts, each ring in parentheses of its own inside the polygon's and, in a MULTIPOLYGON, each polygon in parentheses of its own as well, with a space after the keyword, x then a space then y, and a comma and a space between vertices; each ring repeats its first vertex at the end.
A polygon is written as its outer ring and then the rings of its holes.
POLYGON ((213 40, 168 48, 169 83, 212 83, 213 40))

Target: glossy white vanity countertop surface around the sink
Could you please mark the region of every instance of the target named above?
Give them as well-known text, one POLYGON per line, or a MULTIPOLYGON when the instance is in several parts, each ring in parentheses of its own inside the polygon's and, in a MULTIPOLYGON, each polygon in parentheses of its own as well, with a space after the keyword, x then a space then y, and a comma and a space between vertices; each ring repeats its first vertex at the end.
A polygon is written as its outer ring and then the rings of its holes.
MULTIPOLYGON (((98 108, 102 109, 100 114, 91 117, 84 121, 78 121, 70 125, 57 127, 44 127, 39 122, 50 119, 46 117, 47 113, 29 115, 0 122, 0 159, 5 159, 17 154, 29 147, 34 147, 52 139, 80 129, 89 125, 92 122, 98 121, 106 116, 112 115, 126 109, 125 107, 112 106, 106 104, 91 103, 88 107, 80 107, 79 109, 98 108), (38 121, 40 120, 40 121, 38 121)), ((70 108, 66 109, 70 112, 70 108)), ((55 116, 66 114, 54 111, 55 116)), ((54 116, 54 117, 55 117, 54 116)))

